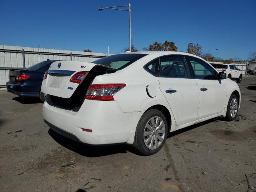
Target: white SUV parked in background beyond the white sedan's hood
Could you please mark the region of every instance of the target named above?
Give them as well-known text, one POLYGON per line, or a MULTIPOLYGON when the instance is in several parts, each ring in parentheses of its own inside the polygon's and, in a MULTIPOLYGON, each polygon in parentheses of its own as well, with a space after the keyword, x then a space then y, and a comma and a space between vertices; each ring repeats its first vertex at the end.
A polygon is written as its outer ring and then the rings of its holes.
POLYGON ((224 72, 227 74, 228 78, 232 80, 236 80, 236 82, 241 83, 242 82, 242 72, 240 69, 236 68, 233 64, 230 63, 224 63, 224 64, 212 64, 214 68, 218 72, 224 72))

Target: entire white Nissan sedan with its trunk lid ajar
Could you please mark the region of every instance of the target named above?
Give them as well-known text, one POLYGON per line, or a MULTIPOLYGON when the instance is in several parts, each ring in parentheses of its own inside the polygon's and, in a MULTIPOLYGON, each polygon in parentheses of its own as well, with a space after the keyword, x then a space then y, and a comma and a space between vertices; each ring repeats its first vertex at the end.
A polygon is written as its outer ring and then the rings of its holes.
POLYGON ((168 133, 218 116, 234 120, 238 84, 183 52, 130 52, 53 62, 44 75, 48 126, 78 142, 158 152, 168 133))

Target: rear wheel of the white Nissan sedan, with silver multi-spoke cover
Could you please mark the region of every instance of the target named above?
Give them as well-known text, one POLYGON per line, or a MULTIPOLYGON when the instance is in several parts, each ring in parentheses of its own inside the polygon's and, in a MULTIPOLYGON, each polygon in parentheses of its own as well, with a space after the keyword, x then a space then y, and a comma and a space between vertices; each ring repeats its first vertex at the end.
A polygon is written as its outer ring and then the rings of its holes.
POLYGON ((164 114, 156 109, 145 112, 140 118, 132 146, 143 155, 156 154, 164 145, 168 124, 164 114))

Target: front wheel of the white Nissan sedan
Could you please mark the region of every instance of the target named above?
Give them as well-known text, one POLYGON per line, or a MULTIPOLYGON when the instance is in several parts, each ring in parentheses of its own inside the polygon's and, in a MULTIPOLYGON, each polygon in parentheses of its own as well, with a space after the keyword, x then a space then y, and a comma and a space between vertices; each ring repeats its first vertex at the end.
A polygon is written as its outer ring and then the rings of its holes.
POLYGON ((233 121, 236 118, 236 114, 238 112, 238 104, 237 96, 235 94, 231 94, 227 106, 226 120, 233 121))

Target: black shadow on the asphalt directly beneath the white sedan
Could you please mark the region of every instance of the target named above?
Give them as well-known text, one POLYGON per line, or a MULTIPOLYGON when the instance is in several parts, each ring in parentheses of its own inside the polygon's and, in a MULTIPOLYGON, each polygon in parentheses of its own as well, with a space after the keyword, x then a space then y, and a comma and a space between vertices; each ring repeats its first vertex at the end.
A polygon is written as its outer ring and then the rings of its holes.
MULTIPOLYGON (((176 136, 178 134, 181 134, 183 132, 192 130, 194 128, 198 128, 200 126, 203 126, 205 124, 214 122, 214 121, 223 121, 223 118, 215 118, 211 120, 207 120, 174 132, 171 132, 167 139, 173 136, 176 136)), ((62 145, 63 147, 72 150, 73 152, 76 152, 82 156, 86 157, 100 157, 100 156, 107 156, 112 154, 118 154, 118 153, 127 153, 127 151, 142 156, 142 154, 138 153, 134 148, 132 148, 131 145, 126 144, 116 144, 116 145, 106 145, 106 146, 91 146, 87 144, 82 144, 73 140, 70 140, 69 138, 66 138, 56 132, 54 132, 52 129, 48 130, 49 135, 56 141, 58 144, 62 145)))

